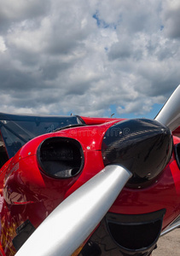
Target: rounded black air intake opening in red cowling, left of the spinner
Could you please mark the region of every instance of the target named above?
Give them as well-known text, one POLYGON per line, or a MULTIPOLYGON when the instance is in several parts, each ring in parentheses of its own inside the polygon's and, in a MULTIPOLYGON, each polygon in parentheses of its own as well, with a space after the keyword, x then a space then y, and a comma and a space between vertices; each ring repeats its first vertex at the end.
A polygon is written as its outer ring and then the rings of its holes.
POLYGON ((50 177, 73 177, 84 166, 83 149, 72 138, 51 137, 40 144, 38 163, 40 169, 50 177))

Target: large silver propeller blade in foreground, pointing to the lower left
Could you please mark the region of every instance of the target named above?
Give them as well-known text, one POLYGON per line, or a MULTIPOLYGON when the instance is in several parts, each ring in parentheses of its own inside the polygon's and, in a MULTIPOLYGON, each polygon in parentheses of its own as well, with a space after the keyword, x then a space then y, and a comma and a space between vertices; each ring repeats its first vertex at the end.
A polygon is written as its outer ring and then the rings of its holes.
POLYGON ((121 166, 106 166, 62 201, 15 255, 72 255, 96 229, 131 176, 121 166))

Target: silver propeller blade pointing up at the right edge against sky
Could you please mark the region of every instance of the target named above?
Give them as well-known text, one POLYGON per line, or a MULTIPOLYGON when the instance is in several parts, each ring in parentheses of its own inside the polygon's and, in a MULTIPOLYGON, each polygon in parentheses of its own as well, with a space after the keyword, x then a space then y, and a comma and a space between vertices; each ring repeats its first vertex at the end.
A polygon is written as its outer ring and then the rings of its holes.
POLYGON ((176 130, 180 125, 180 85, 172 93, 155 120, 169 127, 171 131, 176 130))

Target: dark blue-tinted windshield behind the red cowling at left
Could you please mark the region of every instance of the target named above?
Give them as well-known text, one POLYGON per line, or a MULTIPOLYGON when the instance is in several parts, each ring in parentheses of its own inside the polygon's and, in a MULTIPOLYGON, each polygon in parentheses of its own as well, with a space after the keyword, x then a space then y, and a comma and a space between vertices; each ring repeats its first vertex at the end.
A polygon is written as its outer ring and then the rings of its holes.
POLYGON ((9 158, 33 137, 67 125, 82 124, 78 116, 32 116, 0 113, 0 130, 9 158))

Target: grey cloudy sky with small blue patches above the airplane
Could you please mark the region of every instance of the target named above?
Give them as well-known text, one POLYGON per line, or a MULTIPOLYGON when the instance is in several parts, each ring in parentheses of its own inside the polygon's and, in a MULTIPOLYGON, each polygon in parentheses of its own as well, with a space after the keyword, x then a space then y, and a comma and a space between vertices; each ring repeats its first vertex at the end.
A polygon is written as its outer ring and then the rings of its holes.
POLYGON ((0 0, 0 112, 153 118, 180 84, 179 0, 0 0))

